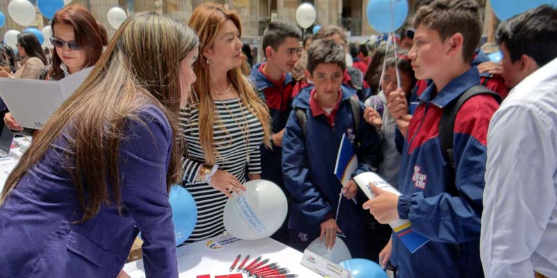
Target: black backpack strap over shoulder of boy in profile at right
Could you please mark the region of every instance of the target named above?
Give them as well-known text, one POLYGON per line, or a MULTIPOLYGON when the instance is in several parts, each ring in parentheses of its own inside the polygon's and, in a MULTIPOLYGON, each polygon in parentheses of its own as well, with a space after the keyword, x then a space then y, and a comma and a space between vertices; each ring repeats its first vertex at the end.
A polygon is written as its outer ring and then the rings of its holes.
POLYGON ((439 121, 439 142, 441 143, 441 150, 443 155, 445 156, 446 160, 450 166, 450 181, 453 182, 453 186, 448 186, 448 193, 455 196, 457 195, 458 191, 456 186, 454 186, 455 181, 455 155, 453 150, 453 140, 454 140, 454 130, 455 130, 455 120, 457 117, 457 113, 462 107, 462 105, 471 97, 476 95, 492 95, 494 99, 501 103, 501 97, 485 88, 484 85, 474 85, 473 87, 469 88, 464 92, 464 94, 460 95, 457 99, 451 101, 443 108, 443 115, 441 116, 441 120, 439 121))

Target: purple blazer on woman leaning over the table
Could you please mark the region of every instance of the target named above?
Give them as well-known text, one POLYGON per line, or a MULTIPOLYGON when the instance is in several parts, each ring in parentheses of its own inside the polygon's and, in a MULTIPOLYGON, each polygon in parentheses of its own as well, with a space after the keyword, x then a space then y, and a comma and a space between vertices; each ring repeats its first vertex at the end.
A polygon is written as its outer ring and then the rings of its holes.
POLYGON ((146 124, 127 124, 120 142, 121 213, 103 205, 72 224, 83 211, 66 170, 71 135, 62 133, 0 206, 0 277, 116 277, 139 231, 147 277, 178 277, 166 193, 172 129, 155 106, 139 115, 146 124))

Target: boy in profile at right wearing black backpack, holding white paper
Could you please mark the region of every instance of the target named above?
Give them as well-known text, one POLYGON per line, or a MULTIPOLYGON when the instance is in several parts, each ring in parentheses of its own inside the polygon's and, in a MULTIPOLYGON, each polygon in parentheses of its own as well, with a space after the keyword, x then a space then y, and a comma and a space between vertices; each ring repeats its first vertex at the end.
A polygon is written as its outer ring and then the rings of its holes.
POLYGON ((498 101, 480 94, 462 104, 454 120, 452 152, 439 138, 444 109, 480 83, 477 68, 470 65, 481 35, 478 3, 432 1, 418 10, 414 27, 408 57, 416 78, 433 83, 419 97, 407 129, 398 179, 402 195, 372 186, 377 197, 364 207, 379 222, 410 220, 413 231, 430 239, 410 253, 398 236, 391 237, 398 277, 483 277, 479 238, 485 145, 498 101))

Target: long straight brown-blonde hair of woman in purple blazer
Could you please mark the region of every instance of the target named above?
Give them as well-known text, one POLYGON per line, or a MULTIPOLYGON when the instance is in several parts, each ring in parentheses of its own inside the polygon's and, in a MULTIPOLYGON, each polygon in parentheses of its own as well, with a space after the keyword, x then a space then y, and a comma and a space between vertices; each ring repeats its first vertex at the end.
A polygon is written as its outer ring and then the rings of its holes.
POLYGON ((118 152, 130 120, 146 104, 166 115, 173 131, 167 190, 181 180, 182 144, 178 138, 180 109, 180 60, 197 47, 197 36, 184 24, 155 13, 128 18, 114 35, 86 81, 50 117, 33 139, 1 194, 1 202, 17 186, 30 167, 36 165, 63 133, 68 140, 68 171, 86 221, 111 204, 110 193, 120 208, 118 152), (74 153, 70 156, 71 153, 74 153))

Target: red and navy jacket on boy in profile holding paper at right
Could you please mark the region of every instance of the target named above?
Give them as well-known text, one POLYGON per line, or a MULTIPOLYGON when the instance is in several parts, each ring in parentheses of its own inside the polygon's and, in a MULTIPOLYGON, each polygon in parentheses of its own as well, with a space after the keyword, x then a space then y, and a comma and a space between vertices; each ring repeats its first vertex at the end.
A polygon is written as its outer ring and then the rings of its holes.
POLYGON ((457 113, 454 179, 439 142, 442 108, 478 83, 480 74, 471 67, 437 94, 431 84, 419 97, 402 153, 398 214, 430 242, 411 254, 393 236, 391 262, 398 277, 483 277, 479 239, 487 127, 498 102, 478 95, 457 113))

